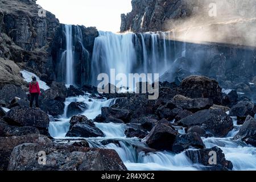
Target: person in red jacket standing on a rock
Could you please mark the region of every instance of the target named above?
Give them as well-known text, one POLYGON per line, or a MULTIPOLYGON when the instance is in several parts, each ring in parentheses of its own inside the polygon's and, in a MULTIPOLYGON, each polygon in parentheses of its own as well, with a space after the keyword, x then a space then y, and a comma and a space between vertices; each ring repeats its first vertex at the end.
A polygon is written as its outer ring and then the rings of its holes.
POLYGON ((36 81, 36 77, 32 76, 32 81, 30 82, 30 107, 33 106, 33 102, 35 99, 36 102, 36 108, 39 108, 39 104, 38 104, 38 97, 41 94, 40 92, 40 88, 39 88, 39 84, 36 81))

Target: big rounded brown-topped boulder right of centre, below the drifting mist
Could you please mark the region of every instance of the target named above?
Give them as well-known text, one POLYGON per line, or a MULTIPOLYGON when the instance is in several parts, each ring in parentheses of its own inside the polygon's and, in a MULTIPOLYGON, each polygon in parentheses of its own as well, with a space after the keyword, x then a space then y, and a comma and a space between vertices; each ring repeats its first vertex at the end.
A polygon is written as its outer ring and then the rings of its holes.
POLYGON ((189 98, 209 98, 221 105, 222 92, 216 80, 204 76, 189 76, 181 82, 181 93, 189 98))

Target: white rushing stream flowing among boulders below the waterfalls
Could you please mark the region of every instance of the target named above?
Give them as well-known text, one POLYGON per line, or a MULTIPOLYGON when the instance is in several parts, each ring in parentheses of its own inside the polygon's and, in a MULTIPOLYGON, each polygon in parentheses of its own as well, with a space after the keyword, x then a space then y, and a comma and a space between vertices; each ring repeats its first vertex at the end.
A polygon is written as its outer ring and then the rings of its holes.
MULTIPOLYGON (((101 107, 111 106, 114 100, 97 100, 90 98, 90 94, 79 97, 67 98, 65 105, 68 106, 71 102, 85 102, 88 105, 88 110, 84 114, 89 119, 95 118, 101 114, 101 107)), ((54 138, 65 138, 65 134, 69 129, 70 118, 65 117, 65 114, 59 118, 60 122, 50 122, 49 133, 54 138)), ((236 119, 234 123, 236 123, 236 119)), ((88 138, 91 147, 110 148, 117 151, 123 163, 129 170, 198 170, 199 164, 193 164, 183 153, 172 154, 171 152, 138 152, 137 148, 144 147, 144 143, 137 138, 126 138, 124 131, 125 124, 116 123, 95 123, 101 129, 106 137, 104 138, 88 138), (101 144, 102 140, 114 139, 119 141, 119 145, 109 143, 106 146, 101 144), (137 146, 137 147, 135 147, 137 146)), ((234 130, 230 131, 226 138, 203 138, 203 142, 207 148, 218 146, 224 151, 227 160, 231 160, 234 165, 234 170, 255 170, 256 169, 256 148, 248 146, 241 140, 233 140, 232 138, 238 132, 240 126, 235 126, 234 130)), ((179 133, 183 134, 183 128, 177 128, 179 133)))

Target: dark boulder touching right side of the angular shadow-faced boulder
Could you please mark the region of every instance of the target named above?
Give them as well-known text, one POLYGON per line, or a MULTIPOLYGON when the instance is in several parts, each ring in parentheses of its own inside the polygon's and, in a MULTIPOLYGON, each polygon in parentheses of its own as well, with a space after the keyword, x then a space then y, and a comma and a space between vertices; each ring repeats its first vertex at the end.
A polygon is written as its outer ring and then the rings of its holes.
POLYGON ((189 147, 194 148, 205 148, 203 140, 197 133, 187 133, 184 135, 178 135, 172 146, 172 151, 175 153, 180 153, 189 147))

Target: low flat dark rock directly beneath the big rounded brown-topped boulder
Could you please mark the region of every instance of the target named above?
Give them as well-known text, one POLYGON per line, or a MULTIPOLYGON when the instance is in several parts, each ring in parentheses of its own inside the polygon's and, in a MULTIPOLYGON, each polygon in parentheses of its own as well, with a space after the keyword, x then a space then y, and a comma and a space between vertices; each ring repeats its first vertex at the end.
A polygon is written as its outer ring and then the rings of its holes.
POLYGON ((196 112, 199 110, 209 109, 213 105, 213 101, 209 98, 187 98, 187 97, 174 97, 174 104, 176 107, 180 107, 185 110, 196 112))

